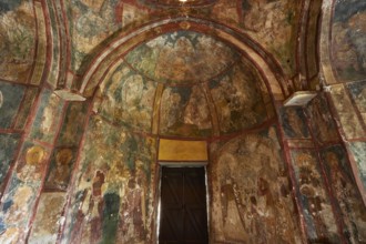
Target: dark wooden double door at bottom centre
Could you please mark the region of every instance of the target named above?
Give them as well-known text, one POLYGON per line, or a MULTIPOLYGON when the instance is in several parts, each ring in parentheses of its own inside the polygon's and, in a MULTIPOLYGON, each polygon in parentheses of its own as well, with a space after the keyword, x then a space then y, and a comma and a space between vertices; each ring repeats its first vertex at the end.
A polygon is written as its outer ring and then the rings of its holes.
POLYGON ((205 167, 162 167, 159 243, 209 243, 205 167))

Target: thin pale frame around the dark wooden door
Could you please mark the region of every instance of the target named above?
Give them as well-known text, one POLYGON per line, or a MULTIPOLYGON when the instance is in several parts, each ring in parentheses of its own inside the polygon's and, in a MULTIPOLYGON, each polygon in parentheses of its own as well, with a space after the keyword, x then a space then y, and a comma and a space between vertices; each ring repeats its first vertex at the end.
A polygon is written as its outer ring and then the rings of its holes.
POLYGON ((210 243, 210 192, 209 192, 209 174, 207 174, 207 165, 209 162, 157 162, 159 172, 159 183, 157 183, 157 211, 156 211, 156 224, 155 224, 155 243, 159 244, 159 235, 160 235, 160 222, 161 222, 161 186, 162 186, 162 169, 163 166, 167 167, 203 167, 204 176, 205 176, 205 189, 206 189, 206 215, 207 215, 207 238, 210 243))

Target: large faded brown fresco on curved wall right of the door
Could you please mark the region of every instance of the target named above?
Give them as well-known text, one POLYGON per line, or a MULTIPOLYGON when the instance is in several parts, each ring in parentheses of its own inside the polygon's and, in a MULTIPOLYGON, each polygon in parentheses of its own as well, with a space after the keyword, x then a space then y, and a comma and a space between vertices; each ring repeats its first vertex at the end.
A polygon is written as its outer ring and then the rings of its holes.
POLYGON ((275 128, 210 146, 215 243, 302 243, 275 128))

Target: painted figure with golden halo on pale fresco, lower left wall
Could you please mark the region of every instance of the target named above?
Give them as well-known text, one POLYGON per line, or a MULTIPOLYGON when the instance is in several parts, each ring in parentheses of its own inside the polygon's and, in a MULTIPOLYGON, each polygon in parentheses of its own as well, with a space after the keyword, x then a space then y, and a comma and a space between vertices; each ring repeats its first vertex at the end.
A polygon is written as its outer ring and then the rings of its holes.
POLYGON ((44 156, 45 152, 42 146, 33 145, 28 149, 26 163, 20 163, 17 169, 17 176, 23 182, 41 180, 44 156))

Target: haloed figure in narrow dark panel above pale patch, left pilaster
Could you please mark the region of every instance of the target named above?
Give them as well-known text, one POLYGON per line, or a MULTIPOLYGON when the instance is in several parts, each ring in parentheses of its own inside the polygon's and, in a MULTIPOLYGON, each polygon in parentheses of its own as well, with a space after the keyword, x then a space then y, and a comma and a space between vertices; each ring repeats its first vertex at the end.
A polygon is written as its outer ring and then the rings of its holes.
POLYGON ((72 151, 62 149, 55 154, 55 165, 48 179, 49 186, 64 190, 68 186, 70 175, 70 163, 72 160, 72 151))

